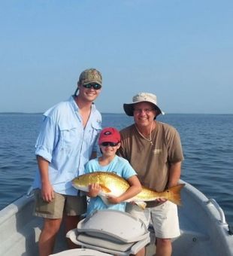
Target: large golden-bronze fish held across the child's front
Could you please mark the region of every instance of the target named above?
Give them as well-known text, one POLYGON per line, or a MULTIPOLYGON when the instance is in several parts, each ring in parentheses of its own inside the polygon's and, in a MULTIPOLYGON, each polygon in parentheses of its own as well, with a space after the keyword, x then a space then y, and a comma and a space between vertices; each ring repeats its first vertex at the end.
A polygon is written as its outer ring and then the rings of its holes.
MULTIPOLYGON (((120 195, 129 188, 128 181, 113 172, 91 172, 80 175, 72 180, 72 185, 76 189, 86 192, 89 191, 89 184, 94 183, 98 183, 100 185, 101 191, 99 192, 98 196, 104 200, 104 203, 107 202, 106 199, 108 196, 120 197, 120 195)), ((135 202, 144 208, 145 205, 143 206, 143 203, 145 201, 154 201, 160 198, 169 200, 172 203, 180 206, 180 190, 183 188, 183 186, 184 184, 178 184, 177 186, 170 187, 163 192, 156 192, 150 188, 143 187, 139 194, 129 200, 126 200, 126 202, 135 202)))

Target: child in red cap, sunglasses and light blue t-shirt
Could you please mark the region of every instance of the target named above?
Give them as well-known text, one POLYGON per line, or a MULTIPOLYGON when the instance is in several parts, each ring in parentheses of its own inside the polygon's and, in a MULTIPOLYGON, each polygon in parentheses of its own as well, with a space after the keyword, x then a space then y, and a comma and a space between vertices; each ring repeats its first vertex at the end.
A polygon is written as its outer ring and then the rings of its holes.
POLYGON ((98 192, 101 190, 99 184, 90 184, 89 193, 90 197, 89 205, 87 207, 87 215, 94 210, 100 209, 116 209, 125 212, 126 203, 124 200, 134 197, 141 192, 141 183, 138 180, 137 173, 129 164, 128 160, 123 157, 118 157, 116 151, 120 148, 120 133, 113 127, 104 128, 101 131, 98 145, 101 151, 101 157, 89 160, 86 164, 85 173, 89 172, 114 172, 122 178, 125 178, 130 187, 120 197, 107 197, 110 205, 106 205, 100 197, 98 192))

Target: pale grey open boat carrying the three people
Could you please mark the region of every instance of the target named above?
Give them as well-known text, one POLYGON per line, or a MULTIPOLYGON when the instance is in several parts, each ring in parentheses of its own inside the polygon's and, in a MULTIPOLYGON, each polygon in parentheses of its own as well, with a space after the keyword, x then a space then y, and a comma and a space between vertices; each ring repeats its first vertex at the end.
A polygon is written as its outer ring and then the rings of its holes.
MULTIPOLYGON (((233 256, 233 233, 216 200, 208 199, 188 182, 180 180, 180 183, 186 184, 181 191, 182 206, 178 207, 181 235, 172 241, 172 255, 233 256)), ((38 255, 42 219, 32 215, 33 207, 33 194, 28 193, 0 211, 0 255, 38 255)), ((98 247, 97 250, 87 245, 68 250, 61 227, 53 255, 111 255, 101 244, 98 247)), ((147 256, 153 256, 155 249, 150 230, 147 256)))

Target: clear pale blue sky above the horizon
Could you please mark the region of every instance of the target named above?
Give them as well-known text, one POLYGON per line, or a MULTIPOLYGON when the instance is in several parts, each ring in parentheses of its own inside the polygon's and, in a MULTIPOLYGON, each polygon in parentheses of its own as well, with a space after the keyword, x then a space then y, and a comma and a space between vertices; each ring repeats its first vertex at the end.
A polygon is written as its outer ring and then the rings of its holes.
POLYGON ((232 0, 0 0, 0 112, 44 112, 95 68, 102 113, 148 92, 168 114, 233 114, 232 14, 232 0))

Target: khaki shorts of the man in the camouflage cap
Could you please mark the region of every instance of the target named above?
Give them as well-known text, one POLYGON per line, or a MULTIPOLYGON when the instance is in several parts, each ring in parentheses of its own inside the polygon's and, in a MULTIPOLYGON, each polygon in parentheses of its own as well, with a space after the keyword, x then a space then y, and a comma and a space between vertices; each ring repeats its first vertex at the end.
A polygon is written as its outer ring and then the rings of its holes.
POLYGON ((41 190, 35 190, 34 215, 43 218, 62 218, 62 215, 77 216, 86 213, 86 196, 68 196, 54 192, 54 199, 47 203, 41 197, 41 190))

